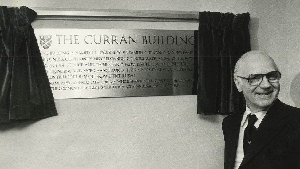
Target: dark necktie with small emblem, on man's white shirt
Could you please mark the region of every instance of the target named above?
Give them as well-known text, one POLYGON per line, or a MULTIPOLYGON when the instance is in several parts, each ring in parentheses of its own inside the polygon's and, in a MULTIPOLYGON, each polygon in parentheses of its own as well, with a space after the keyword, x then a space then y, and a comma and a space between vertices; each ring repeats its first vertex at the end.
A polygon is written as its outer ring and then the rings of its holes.
POLYGON ((254 126, 254 123, 257 121, 257 117, 255 114, 248 115, 248 126, 245 128, 244 131, 244 154, 246 154, 247 149, 252 141, 252 136, 255 133, 255 131, 257 130, 256 127, 254 126))

